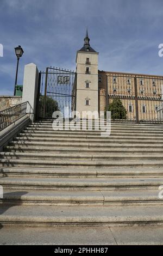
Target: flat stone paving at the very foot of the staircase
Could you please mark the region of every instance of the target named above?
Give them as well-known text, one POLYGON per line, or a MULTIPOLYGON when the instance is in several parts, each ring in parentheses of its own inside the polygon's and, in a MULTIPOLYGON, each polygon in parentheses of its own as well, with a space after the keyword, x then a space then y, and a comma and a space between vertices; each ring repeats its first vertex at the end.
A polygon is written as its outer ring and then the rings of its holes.
MULTIPOLYGON (((163 245, 163 227, 1 227, 1 245, 163 245)), ((99 247, 100 248, 100 247, 99 247)), ((89 248, 88 248, 89 249, 89 248)), ((94 249, 94 248, 92 248, 94 249)), ((98 249, 98 248, 97 248, 98 249)), ((97 251, 98 252, 98 251, 97 251)), ((71 252, 69 251, 69 254, 71 252)))

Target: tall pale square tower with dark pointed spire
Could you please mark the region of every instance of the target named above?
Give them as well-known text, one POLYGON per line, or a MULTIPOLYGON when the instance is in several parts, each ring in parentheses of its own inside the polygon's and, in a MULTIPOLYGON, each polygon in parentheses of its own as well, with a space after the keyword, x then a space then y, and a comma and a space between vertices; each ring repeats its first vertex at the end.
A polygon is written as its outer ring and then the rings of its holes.
POLYGON ((98 111, 98 52, 90 46, 86 30, 84 46, 77 51, 77 102, 76 110, 98 111))

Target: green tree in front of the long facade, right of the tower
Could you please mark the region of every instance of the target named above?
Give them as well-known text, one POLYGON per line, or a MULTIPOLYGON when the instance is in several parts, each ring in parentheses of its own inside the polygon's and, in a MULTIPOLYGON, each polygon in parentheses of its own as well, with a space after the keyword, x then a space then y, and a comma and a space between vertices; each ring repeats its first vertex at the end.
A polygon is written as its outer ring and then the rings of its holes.
POLYGON ((111 111, 111 119, 126 119, 127 111, 123 106, 120 99, 114 99, 108 107, 108 111, 111 111))

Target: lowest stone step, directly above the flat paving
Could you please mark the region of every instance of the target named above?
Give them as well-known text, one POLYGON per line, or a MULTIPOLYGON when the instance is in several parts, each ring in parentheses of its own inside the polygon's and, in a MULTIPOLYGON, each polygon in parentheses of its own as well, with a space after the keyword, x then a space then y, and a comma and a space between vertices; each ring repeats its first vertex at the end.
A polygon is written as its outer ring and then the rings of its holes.
POLYGON ((150 225, 163 222, 163 206, 35 206, 4 205, 0 209, 2 225, 150 225))

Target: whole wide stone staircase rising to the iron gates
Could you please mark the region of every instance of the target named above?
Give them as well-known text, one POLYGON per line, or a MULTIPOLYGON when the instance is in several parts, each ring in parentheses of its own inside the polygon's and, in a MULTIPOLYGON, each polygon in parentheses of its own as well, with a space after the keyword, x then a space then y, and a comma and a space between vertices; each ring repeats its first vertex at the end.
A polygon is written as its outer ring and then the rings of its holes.
POLYGON ((0 153, 1 225, 162 224, 163 125, 53 131, 37 121, 0 153))

